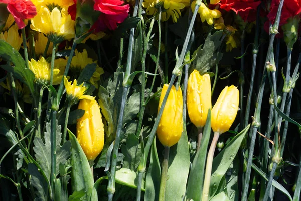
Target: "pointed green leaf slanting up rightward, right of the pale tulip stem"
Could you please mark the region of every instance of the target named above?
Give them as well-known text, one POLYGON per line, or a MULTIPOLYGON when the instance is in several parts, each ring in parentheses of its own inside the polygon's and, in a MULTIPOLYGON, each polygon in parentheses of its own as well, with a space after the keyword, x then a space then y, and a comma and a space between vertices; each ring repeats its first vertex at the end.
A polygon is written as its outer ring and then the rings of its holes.
POLYGON ((226 174, 228 168, 233 162, 240 144, 250 128, 250 124, 237 134, 227 146, 213 159, 212 175, 210 179, 209 199, 213 197, 217 191, 217 187, 223 176, 226 174))

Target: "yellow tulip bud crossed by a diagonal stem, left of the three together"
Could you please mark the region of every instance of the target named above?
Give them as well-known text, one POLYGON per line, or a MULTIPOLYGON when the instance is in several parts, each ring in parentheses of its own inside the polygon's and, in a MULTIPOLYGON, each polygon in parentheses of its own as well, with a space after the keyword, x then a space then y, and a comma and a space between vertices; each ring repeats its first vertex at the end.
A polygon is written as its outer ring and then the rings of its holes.
MULTIPOLYGON (((161 108, 168 85, 164 84, 159 100, 158 112, 161 108)), ((183 131, 183 96, 181 88, 176 91, 172 86, 157 128, 159 141, 164 146, 173 146, 180 138, 183 131)))

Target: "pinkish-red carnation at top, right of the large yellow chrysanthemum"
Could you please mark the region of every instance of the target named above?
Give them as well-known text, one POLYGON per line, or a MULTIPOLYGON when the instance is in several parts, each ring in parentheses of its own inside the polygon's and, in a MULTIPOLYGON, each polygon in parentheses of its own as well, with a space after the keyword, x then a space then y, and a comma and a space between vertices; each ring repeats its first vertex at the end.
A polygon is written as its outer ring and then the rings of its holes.
POLYGON ((120 0, 95 0, 94 10, 100 11, 102 14, 99 16, 95 23, 96 31, 104 31, 106 28, 115 30, 117 23, 122 23, 128 16, 129 5, 123 5, 120 0))

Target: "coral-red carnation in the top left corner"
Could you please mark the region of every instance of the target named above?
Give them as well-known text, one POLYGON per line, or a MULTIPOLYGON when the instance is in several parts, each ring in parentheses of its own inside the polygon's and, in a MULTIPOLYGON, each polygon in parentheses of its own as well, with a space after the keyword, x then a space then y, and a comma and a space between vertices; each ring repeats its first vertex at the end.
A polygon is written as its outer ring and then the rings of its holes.
POLYGON ((8 4, 7 9, 20 29, 25 27, 23 20, 37 15, 37 8, 30 0, 0 0, 0 3, 8 4))

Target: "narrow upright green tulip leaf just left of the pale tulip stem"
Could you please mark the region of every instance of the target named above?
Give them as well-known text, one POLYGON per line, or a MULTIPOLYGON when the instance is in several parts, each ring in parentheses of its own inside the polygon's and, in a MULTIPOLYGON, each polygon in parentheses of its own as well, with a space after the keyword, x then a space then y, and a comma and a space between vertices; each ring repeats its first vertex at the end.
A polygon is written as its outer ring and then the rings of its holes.
POLYGON ((207 148, 211 134, 211 110, 208 110, 207 120, 199 151, 193 160, 187 184, 187 198, 195 201, 201 200, 205 175, 207 148))

